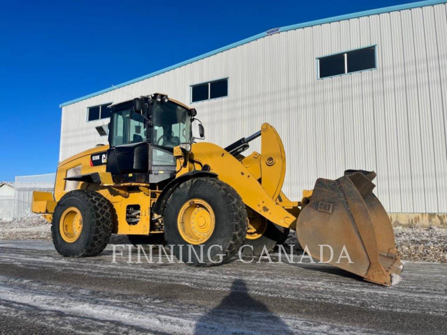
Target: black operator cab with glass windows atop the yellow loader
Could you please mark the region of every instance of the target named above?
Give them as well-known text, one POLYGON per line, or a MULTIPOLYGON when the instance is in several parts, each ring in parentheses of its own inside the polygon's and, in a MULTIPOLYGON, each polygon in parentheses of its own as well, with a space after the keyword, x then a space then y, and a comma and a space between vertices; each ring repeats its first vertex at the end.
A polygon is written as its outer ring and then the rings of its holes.
POLYGON ((110 108, 106 171, 114 182, 158 183, 175 177, 173 148, 192 142, 195 110, 162 94, 142 96, 110 108))

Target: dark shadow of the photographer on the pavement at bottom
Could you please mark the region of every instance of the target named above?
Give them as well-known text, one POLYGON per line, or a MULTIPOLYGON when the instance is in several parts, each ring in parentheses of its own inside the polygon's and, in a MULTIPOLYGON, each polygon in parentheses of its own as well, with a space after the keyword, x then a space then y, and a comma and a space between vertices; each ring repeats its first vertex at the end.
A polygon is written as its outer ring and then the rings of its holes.
POLYGON ((245 281, 233 281, 231 291, 219 306, 204 314, 195 324, 194 334, 244 334, 260 332, 266 334, 292 334, 283 320, 263 303, 249 295, 245 281), (252 329, 250 324, 261 326, 252 329))

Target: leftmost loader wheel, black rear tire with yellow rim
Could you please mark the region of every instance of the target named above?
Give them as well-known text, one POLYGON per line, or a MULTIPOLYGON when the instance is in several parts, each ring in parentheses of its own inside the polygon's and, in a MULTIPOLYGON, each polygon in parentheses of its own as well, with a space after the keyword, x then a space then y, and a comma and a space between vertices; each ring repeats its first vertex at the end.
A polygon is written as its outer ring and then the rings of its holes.
POLYGON ((98 255, 109 243, 112 218, 110 201, 100 193, 88 190, 66 193, 58 201, 51 222, 56 251, 64 257, 98 255), (70 215, 77 215, 78 229, 71 229, 70 215))

